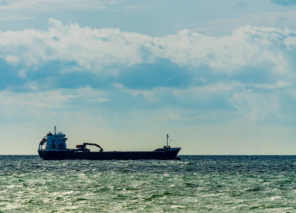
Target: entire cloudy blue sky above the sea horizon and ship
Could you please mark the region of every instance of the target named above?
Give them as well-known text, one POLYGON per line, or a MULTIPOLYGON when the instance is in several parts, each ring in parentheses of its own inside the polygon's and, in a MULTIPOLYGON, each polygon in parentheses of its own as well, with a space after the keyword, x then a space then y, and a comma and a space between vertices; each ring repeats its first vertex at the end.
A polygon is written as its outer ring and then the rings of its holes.
POLYGON ((0 154, 296 154, 295 86, 296 0, 0 0, 0 154))

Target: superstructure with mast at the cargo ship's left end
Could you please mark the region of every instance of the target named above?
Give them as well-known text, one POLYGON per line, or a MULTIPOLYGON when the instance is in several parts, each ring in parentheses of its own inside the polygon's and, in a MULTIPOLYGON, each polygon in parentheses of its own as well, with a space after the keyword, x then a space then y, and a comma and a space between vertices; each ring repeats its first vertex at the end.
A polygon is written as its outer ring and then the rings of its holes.
POLYGON ((54 134, 49 132, 46 136, 42 138, 39 143, 38 150, 66 150, 67 149, 67 141, 66 135, 63 132, 57 132, 57 127, 54 126, 54 134), (43 149, 43 145, 45 144, 45 149, 43 149))

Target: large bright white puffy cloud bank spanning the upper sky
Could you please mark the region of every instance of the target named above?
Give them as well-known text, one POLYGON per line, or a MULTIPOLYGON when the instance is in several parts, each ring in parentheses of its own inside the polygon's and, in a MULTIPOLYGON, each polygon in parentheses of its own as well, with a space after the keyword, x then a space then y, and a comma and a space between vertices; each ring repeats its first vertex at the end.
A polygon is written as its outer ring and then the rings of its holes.
MULTIPOLYGON (((37 69, 48 61, 75 61, 76 70, 104 72, 169 59, 180 66, 207 64, 215 72, 233 74, 244 66, 271 66, 270 74, 293 76, 289 51, 296 49, 296 30, 246 26, 231 36, 204 36, 189 30, 150 37, 119 29, 81 28, 49 19, 49 30, 0 32, 0 58, 37 69), (108 69, 105 69, 108 71, 108 69)), ((293 76, 294 77, 294 76, 293 76)))

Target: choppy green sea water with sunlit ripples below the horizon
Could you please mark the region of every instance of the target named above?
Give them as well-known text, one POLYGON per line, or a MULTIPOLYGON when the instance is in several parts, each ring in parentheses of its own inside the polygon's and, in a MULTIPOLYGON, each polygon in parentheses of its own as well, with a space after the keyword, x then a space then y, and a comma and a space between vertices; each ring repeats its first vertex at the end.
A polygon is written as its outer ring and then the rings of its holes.
POLYGON ((296 213, 296 156, 180 157, 0 155, 0 212, 296 213))

